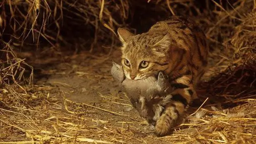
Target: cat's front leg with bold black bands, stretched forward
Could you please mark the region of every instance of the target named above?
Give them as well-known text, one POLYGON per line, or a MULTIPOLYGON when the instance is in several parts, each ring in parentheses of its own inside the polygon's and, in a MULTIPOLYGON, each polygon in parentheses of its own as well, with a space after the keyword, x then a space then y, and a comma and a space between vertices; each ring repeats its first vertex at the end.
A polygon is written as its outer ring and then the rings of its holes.
POLYGON ((196 98, 192 75, 181 75, 171 81, 174 91, 171 93, 172 101, 166 104, 160 118, 156 122, 154 133, 157 136, 164 136, 175 127, 177 120, 182 118, 186 106, 192 97, 196 98))

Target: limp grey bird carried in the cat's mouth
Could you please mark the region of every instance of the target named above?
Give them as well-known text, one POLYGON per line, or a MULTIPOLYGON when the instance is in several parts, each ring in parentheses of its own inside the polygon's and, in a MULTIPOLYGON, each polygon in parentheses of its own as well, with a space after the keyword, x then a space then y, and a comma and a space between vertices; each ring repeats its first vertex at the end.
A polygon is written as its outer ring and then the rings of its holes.
POLYGON ((132 106, 149 124, 155 125, 160 117, 160 112, 172 98, 170 95, 172 87, 169 85, 168 76, 159 72, 157 78, 151 76, 132 81, 125 78, 123 66, 115 62, 112 63, 111 74, 114 80, 119 83, 122 91, 127 94, 132 106), (161 102, 159 103, 159 101, 161 102))

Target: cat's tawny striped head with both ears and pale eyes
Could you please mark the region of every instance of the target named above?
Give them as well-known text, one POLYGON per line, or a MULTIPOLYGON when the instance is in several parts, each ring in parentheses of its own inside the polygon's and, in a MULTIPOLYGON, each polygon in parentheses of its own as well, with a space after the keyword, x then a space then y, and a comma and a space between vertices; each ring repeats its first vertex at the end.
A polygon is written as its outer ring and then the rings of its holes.
POLYGON ((144 79, 168 67, 171 42, 167 32, 134 35, 119 28, 117 33, 122 42, 122 65, 126 78, 144 79))

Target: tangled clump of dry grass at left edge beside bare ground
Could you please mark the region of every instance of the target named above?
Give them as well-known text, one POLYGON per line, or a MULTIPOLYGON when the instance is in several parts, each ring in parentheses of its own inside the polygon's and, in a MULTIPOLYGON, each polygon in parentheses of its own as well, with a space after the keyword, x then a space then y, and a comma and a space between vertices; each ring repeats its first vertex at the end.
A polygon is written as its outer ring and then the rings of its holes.
POLYGON ((4 104, 4 100, 6 101, 5 105, 25 103, 28 95, 20 83, 25 82, 32 85, 33 67, 29 66, 24 59, 17 58, 9 43, 2 45, 5 46, 0 50, 0 105, 4 104), (25 76, 27 73, 29 76, 25 76))

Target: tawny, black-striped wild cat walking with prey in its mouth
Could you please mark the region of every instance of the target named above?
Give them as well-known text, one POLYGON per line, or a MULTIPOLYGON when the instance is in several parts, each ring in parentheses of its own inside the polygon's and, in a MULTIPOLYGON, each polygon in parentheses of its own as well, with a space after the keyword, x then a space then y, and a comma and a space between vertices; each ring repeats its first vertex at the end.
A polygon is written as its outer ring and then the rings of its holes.
MULTIPOLYGON (((207 66, 206 36, 193 20, 182 16, 159 21, 142 34, 134 35, 124 28, 117 33, 122 42, 126 78, 137 81, 156 77, 160 71, 169 76, 174 88, 169 93, 172 100, 161 105, 163 109, 155 124, 155 134, 166 135, 184 115, 186 106, 198 98, 195 89, 207 66)), ((154 102, 156 106, 162 103, 154 102)))

